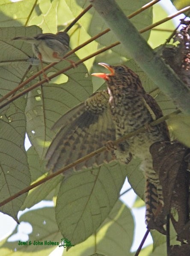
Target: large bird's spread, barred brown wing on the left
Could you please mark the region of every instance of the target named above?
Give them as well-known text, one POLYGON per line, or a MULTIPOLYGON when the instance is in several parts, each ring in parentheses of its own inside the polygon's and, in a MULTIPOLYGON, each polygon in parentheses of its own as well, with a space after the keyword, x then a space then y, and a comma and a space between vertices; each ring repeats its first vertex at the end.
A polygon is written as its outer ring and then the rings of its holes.
MULTIPOLYGON (((108 140, 115 140, 115 125, 107 107, 108 100, 107 91, 96 92, 56 122, 53 128, 61 128, 47 150, 47 169, 56 172, 104 146, 108 140)), ((113 159, 113 152, 104 151, 78 164, 75 170, 113 159)))

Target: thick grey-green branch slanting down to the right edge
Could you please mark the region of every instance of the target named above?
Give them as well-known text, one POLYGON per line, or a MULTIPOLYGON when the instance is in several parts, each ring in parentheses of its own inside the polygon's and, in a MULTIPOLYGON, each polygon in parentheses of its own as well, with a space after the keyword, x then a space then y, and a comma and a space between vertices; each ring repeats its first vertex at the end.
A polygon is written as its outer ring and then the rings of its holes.
MULTIPOLYGON (((164 94, 172 98, 184 113, 190 114, 190 90, 172 68, 155 54, 116 2, 114 0, 90 0, 90 2, 125 47, 128 55, 136 61, 164 94)), ((188 9, 190 6, 179 12, 185 12, 188 9)))

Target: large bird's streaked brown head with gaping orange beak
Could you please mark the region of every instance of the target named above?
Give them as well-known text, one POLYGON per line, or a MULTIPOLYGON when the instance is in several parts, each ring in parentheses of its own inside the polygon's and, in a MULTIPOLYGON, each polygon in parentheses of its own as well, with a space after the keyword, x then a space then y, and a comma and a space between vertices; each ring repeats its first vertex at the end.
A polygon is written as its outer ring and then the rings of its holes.
POLYGON ((139 76, 134 73, 130 68, 125 65, 109 65, 106 63, 98 63, 99 65, 107 68, 110 73, 93 73, 95 77, 103 78, 107 81, 108 89, 116 93, 144 93, 139 76))

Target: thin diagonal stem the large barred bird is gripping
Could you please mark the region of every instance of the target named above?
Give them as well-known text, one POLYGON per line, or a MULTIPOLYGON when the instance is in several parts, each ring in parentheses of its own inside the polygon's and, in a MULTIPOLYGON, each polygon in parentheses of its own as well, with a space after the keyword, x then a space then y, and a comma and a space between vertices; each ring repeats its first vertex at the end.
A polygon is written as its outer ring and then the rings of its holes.
MULTIPOLYGON (((170 113, 169 115, 163 116, 163 117, 151 122, 150 126, 158 125, 159 123, 165 121, 166 119, 169 119, 169 117, 171 115, 178 114, 178 113, 181 113, 181 110, 175 110, 174 112, 170 113)), ((132 136, 135 136, 138 133, 144 132, 146 130, 147 130, 147 126, 143 126, 143 127, 139 128, 138 130, 133 131, 129 134, 126 134, 125 136, 119 138, 118 140, 113 141, 113 145, 118 145, 119 143, 127 140, 128 138, 130 138, 132 136)), ((28 186, 27 188, 24 188, 23 190, 19 191, 18 193, 15 193, 13 196, 10 196, 9 198, 3 200, 2 202, 0 202, 0 207, 5 205, 6 203, 12 201, 13 199, 17 198, 18 196, 21 196, 22 194, 28 192, 29 190, 31 190, 33 188, 36 188, 37 186, 41 185, 42 183, 47 182, 48 180, 54 178, 55 176, 57 176, 57 175, 65 172, 66 170, 74 167, 75 165, 80 164, 80 163, 88 160, 89 158, 92 158, 93 156, 100 154, 101 152, 103 152, 105 150, 107 150, 107 148, 105 146, 103 146, 103 147, 89 153, 88 155, 85 155, 84 157, 74 161, 73 163, 66 165, 65 167, 63 167, 62 169, 57 171, 56 173, 50 174, 49 176, 45 177, 44 179, 41 179, 38 182, 33 183, 32 185, 28 186)))

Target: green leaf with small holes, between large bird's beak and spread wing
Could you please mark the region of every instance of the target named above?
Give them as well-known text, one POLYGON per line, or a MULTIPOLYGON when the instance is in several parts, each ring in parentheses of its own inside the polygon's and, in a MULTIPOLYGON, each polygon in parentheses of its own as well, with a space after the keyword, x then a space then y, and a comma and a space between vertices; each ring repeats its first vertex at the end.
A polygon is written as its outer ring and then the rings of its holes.
MULTIPOLYGON (((72 60, 76 61, 78 58, 75 56, 72 60)), ((50 72, 55 73, 67 65, 66 61, 58 63, 50 69, 50 72)), ((65 83, 63 80, 62 83, 48 83, 28 93, 27 134, 40 159, 44 158, 47 147, 55 134, 51 131, 53 124, 69 109, 92 94, 91 78, 83 64, 66 71, 62 77, 65 83)))

